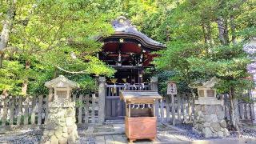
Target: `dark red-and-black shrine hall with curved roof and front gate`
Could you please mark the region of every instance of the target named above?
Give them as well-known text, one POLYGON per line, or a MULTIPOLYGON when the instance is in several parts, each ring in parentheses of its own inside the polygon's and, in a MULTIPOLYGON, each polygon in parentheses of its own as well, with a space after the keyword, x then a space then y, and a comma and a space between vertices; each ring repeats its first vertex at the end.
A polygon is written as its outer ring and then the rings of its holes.
POLYGON ((114 34, 96 39, 104 43, 98 58, 116 70, 114 78, 106 78, 105 120, 125 117, 125 102, 119 98, 121 90, 151 90, 152 76, 146 77, 145 70, 154 69, 151 62, 158 56, 154 51, 165 48, 139 32, 125 17, 114 20, 112 26, 114 34))

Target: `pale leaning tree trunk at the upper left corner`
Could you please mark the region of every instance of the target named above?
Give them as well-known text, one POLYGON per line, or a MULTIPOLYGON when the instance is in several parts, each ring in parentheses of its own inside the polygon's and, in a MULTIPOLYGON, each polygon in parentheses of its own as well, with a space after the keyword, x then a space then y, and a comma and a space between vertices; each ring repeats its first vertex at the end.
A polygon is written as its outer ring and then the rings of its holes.
POLYGON ((4 58, 4 50, 6 49, 9 42, 10 30, 14 21, 15 14, 15 3, 16 0, 9 2, 9 8, 7 10, 6 19, 3 20, 2 32, 0 35, 0 68, 2 68, 2 61, 4 58))

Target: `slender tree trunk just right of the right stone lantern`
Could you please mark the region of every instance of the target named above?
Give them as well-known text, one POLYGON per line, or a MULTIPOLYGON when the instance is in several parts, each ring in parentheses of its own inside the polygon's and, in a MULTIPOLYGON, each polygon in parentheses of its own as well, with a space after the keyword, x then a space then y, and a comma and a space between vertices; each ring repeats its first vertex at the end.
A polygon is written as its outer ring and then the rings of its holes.
POLYGON ((234 98, 234 87, 230 87, 230 120, 232 122, 232 126, 234 127, 235 130, 240 133, 240 128, 239 128, 239 116, 238 116, 238 101, 237 99, 234 98))

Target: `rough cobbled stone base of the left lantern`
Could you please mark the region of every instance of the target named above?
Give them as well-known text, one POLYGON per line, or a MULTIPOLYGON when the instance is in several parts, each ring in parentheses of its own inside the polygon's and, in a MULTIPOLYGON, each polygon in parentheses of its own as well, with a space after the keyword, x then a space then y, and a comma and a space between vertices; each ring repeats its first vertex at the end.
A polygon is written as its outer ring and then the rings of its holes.
POLYGON ((65 107, 61 107, 59 102, 50 102, 41 143, 78 143, 74 102, 70 102, 65 107))

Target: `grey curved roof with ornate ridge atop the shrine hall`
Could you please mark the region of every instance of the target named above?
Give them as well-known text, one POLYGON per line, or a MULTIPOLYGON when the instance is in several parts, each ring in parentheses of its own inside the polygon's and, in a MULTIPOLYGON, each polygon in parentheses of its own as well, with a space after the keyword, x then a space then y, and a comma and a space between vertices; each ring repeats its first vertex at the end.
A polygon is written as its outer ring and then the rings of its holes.
MULTIPOLYGON (((142 43, 142 45, 154 49, 161 50, 166 46, 160 42, 156 42, 153 39, 147 37, 145 34, 139 32, 135 26, 133 26, 130 20, 125 17, 119 17, 112 22, 112 26, 114 27, 114 34, 107 38, 134 38, 142 43)), ((97 41, 103 41, 105 38, 99 36, 96 38, 97 41)))

